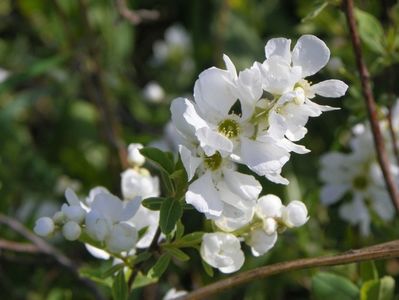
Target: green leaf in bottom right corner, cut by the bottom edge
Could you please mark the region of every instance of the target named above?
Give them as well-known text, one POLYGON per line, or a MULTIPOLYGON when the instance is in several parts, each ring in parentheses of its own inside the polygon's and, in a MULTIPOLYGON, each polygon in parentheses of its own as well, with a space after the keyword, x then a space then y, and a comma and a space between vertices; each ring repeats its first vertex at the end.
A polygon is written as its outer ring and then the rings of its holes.
POLYGON ((366 281, 360 290, 360 300, 392 300, 395 280, 390 276, 366 281))

